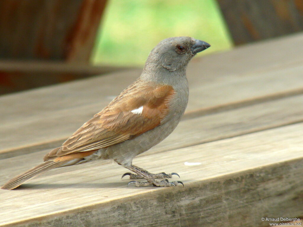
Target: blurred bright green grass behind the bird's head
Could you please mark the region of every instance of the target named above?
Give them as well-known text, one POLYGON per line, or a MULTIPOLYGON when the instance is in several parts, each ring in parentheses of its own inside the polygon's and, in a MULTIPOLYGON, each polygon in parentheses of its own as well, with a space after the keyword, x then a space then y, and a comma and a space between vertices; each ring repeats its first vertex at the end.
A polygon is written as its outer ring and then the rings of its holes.
POLYGON ((100 28, 94 64, 141 66, 159 41, 173 36, 210 43, 200 54, 233 45, 215 0, 109 0, 100 28))

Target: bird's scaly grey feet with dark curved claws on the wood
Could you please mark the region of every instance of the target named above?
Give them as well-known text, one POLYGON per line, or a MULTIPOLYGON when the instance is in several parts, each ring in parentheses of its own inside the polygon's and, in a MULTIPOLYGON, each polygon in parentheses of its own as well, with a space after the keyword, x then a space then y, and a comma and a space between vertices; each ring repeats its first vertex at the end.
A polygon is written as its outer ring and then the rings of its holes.
POLYGON ((134 165, 125 166, 125 168, 131 170, 135 174, 133 174, 133 173, 125 173, 125 174, 123 174, 123 176, 129 175, 131 179, 146 179, 147 180, 146 182, 130 181, 128 183, 128 185, 135 184, 136 187, 141 187, 141 186, 171 187, 171 186, 177 186, 178 183, 180 183, 180 184, 183 185, 183 183, 181 181, 169 182, 168 179, 163 179, 163 178, 171 177, 174 174, 178 175, 177 173, 170 173, 170 174, 158 173, 158 174, 152 174, 152 173, 149 173, 148 171, 146 171, 145 169, 142 169, 142 168, 140 168, 138 166, 134 166, 134 165), (132 177, 136 177, 136 178, 132 178, 132 177), (155 179, 163 179, 163 180, 157 181, 155 179))

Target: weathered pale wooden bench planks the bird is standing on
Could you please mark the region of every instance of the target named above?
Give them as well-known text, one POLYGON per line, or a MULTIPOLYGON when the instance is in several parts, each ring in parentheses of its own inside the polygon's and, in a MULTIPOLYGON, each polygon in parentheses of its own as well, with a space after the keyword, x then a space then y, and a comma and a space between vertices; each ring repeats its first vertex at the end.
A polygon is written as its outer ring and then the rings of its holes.
MULTIPOLYGON (((128 188, 112 162, 58 168, 0 190, 0 226, 267 226, 264 216, 302 216, 302 43, 301 33, 191 62, 185 116, 134 159, 179 173, 185 187, 128 188)), ((40 163, 140 73, 0 97, 0 183, 40 163)))

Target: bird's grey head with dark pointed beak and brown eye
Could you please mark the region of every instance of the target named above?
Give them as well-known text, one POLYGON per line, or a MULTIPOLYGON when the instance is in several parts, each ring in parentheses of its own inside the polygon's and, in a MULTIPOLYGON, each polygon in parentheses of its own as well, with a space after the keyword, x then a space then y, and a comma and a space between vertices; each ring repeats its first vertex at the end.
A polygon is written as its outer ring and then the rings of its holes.
POLYGON ((185 70, 191 58, 208 47, 208 43, 186 36, 164 39, 149 54, 145 69, 157 65, 168 71, 185 70))

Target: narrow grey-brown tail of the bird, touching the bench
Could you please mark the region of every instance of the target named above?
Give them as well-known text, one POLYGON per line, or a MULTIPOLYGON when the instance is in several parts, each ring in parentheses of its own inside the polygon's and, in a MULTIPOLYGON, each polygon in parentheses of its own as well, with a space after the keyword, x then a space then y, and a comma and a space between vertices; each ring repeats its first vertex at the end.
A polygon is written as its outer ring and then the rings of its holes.
POLYGON ((9 180, 7 183, 5 183, 4 185, 1 186, 1 189, 12 190, 12 189, 20 186, 21 184, 25 183, 26 181, 34 178, 35 176, 37 176, 41 173, 44 173, 50 169, 62 166, 64 164, 65 164, 65 162, 54 162, 52 160, 46 161, 32 169, 29 169, 25 173, 22 173, 16 177, 14 177, 13 179, 9 180))

